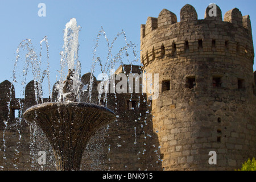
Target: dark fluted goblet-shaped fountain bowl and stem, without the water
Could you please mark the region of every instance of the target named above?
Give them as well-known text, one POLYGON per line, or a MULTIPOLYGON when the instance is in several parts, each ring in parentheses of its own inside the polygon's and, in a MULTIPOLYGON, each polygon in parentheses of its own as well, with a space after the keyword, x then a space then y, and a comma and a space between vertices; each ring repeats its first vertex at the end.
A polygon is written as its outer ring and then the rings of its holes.
POLYGON ((82 102, 46 102, 27 109, 24 119, 36 122, 51 143, 57 170, 79 170, 89 139, 115 119, 113 111, 82 102))

